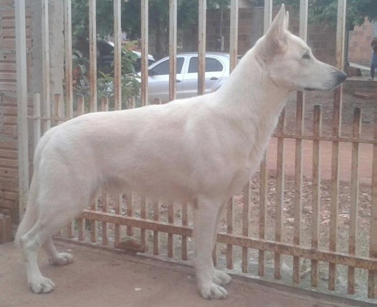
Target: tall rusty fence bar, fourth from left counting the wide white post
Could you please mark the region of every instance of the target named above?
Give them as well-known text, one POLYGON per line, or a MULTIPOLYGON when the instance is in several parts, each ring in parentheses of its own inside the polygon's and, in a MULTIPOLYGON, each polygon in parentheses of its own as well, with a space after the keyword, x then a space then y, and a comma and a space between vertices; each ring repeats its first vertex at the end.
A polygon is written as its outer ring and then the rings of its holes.
POLYGON ((97 26, 96 0, 89 1, 89 78, 90 112, 97 112, 97 26))

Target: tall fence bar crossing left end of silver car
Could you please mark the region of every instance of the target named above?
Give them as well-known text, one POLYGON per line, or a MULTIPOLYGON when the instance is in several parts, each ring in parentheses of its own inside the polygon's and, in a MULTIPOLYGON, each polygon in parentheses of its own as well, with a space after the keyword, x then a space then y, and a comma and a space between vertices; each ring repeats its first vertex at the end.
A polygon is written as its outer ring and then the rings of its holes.
POLYGON ((148 0, 141 0, 141 105, 148 103, 148 0))

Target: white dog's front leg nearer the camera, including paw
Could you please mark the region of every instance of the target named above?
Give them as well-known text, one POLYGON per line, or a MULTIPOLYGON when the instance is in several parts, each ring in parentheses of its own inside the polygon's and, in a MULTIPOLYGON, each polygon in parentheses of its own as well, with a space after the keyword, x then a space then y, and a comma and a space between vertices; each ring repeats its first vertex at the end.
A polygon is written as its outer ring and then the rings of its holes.
POLYGON ((214 283, 212 276, 213 232, 220 204, 210 199, 198 199, 194 206, 194 238, 196 247, 196 279, 199 292, 204 298, 225 298, 227 291, 214 283))

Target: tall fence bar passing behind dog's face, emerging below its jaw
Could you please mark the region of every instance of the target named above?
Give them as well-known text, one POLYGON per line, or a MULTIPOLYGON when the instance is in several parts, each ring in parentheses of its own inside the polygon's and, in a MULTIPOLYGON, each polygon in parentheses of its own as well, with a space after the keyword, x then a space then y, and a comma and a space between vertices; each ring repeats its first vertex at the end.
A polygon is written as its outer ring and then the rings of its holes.
MULTIPOLYGON (((299 36, 306 41, 308 0, 300 0, 299 36)), ((297 92, 296 101, 296 135, 302 136, 304 130, 305 93, 297 92)), ((296 139, 295 153, 295 200, 294 200, 294 234, 293 244, 300 245, 301 208, 302 208, 302 140, 296 139)), ((293 282, 300 282, 300 258, 293 257, 293 282)))

